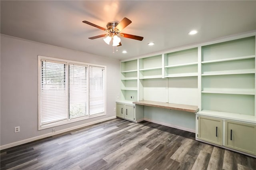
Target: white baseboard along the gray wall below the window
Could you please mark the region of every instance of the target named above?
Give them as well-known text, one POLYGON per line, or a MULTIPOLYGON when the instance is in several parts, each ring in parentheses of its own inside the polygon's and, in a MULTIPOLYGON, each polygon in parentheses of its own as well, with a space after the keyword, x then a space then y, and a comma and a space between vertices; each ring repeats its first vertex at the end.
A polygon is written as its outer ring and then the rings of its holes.
POLYGON ((43 135, 40 135, 40 136, 36 136, 36 137, 20 140, 20 141, 17 141, 17 142, 13 142, 13 143, 10 143, 10 144, 5 144, 5 145, 0 146, 0 150, 11 148, 13 146, 18 146, 18 145, 25 144, 25 143, 28 143, 28 142, 32 142, 32 141, 35 141, 35 140, 39 140, 39 139, 42 139, 42 138, 47 138, 47 137, 50 137, 50 136, 54 136, 56 134, 61 134, 61 133, 64 133, 64 132, 68 132, 70 130, 75 130, 75 129, 78 129, 78 128, 86 127, 86 126, 89 126, 89 125, 93 125, 93 124, 96 124, 96 123, 108 121, 108 120, 115 119, 115 118, 116 118, 116 116, 112 116, 112 117, 108 117, 106 119, 100 119, 98 121, 85 123, 85 124, 78 125, 78 126, 75 126, 75 127, 70 127, 70 128, 58 130, 56 132, 43 134, 43 135))

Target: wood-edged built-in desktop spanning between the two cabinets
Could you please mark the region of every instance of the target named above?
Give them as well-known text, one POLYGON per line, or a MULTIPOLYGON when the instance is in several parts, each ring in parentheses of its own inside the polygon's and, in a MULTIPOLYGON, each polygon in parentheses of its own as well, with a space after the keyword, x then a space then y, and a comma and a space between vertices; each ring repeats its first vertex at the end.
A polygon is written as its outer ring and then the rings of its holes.
POLYGON ((160 107, 165 109, 173 109, 173 110, 186 111, 186 112, 192 112, 192 113, 196 113, 199 110, 197 106, 193 106, 193 105, 181 105, 181 104, 164 103, 164 102, 158 102, 158 101, 141 100, 141 101, 134 101, 132 103, 136 105, 160 107))

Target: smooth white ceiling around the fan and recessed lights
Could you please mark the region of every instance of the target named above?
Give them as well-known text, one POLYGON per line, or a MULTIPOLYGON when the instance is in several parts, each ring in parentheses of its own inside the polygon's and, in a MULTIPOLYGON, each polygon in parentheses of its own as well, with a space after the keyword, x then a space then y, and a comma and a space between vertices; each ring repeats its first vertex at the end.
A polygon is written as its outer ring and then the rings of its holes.
POLYGON ((255 0, 1 0, 0 6, 1 34, 120 60, 256 30, 255 0), (121 38, 122 46, 115 53, 103 38, 88 39, 106 32, 82 23, 87 20, 106 28, 108 22, 120 22, 124 17, 132 23, 122 32, 144 40, 121 38), (194 29, 198 34, 189 36, 194 29), (156 44, 148 46, 148 42, 156 44))

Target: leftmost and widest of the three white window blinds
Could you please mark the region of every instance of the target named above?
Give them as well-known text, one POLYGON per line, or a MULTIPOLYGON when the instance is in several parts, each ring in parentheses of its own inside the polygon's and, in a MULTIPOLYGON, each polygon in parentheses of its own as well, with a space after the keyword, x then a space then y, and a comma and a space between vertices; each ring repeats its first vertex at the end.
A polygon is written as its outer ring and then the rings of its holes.
POLYGON ((41 126, 68 119, 66 66, 57 61, 41 60, 41 126))

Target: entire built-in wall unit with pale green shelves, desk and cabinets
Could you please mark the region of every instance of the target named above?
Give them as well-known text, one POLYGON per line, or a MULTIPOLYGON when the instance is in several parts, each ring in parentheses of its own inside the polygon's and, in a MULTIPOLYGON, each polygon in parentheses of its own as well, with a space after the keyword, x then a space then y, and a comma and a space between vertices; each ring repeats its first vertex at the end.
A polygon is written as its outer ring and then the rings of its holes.
POLYGON ((252 32, 122 61, 117 103, 135 105, 147 121, 188 131, 194 124, 196 140, 255 157, 256 147, 251 151, 244 145, 248 139, 256 144, 255 36, 252 32), (243 140, 230 141, 233 127, 243 140))

